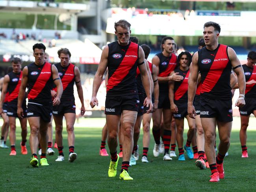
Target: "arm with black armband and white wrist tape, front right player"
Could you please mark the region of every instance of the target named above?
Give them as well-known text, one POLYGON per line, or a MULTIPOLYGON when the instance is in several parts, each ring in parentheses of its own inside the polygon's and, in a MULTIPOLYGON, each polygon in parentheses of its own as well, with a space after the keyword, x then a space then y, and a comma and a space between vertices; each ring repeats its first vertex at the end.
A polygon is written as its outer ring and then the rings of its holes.
POLYGON ((245 105, 245 74, 243 67, 241 66, 240 61, 236 56, 236 52, 230 47, 228 47, 228 57, 230 59, 233 70, 237 75, 237 83, 239 87, 239 98, 237 99, 236 106, 243 107, 245 105))

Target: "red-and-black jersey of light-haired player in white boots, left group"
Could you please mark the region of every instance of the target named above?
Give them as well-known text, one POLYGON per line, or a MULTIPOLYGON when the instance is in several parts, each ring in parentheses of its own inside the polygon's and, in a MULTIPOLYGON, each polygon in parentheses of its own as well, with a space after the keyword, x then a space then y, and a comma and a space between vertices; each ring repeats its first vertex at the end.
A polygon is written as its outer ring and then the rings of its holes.
MULTIPOLYGON (((74 82, 75 82, 75 66, 69 63, 67 67, 61 66, 60 63, 54 64, 58 69, 59 77, 63 86, 61 101, 74 101, 74 82)), ((57 91, 54 85, 54 90, 57 91)))

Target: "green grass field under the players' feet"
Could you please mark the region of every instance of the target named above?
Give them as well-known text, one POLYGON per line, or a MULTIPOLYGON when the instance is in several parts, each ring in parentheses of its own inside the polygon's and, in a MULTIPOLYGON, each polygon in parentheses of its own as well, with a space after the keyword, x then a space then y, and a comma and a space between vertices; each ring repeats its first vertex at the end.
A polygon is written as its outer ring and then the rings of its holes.
MULTIPOLYGON (((28 155, 20 154, 20 127, 17 127, 17 155, 9 156, 9 149, 0 149, 0 191, 255 191, 256 181, 256 125, 255 118, 250 119, 247 133, 249 158, 241 158, 239 142, 240 120, 235 117, 231 135, 229 156, 224 159, 225 179, 219 183, 210 183, 210 169, 199 170, 194 160, 179 162, 163 161, 162 156, 152 154, 154 145, 151 137, 148 152, 149 163, 142 163, 141 156, 137 165, 129 168, 133 181, 121 181, 119 172, 122 159, 119 160, 118 173, 108 177, 110 157, 98 155, 101 140, 101 127, 105 120, 80 119, 75 125, 75 151, 78 159, 68 161, 67 133, 63 132, 65 161, 55 162, 54 156, 48 156, 50 166, 32 168, 30 166, 30 148, 28 155)), ((0 125, 2 119, 0 120, 0 125)), ((19 124, 18 124, 19 125, 19 124)), ((187 126, 186 126, 187 127, 187 126)), ((184 138, 186 139, 184 131, 184 138)), ((141 135, 142 136, 142 135, 141 135)), ((217 143, 219 139, 217 139, 217 143)), ((9 145, 9 140, 7 141, 9 145)), ((107 148, 108 149, 108 148, 107 148)), ((108 150, 109 151, 109 150, 108 150)), ((119 150, 118 150, 119 151, 119 150)), ((142 137, 139 139, 139 152, 142 154, 142 137)), ((176 148, 176 154, 178 154, 176 148)), ((186 154, 185 154, 185 157, 186 154)))

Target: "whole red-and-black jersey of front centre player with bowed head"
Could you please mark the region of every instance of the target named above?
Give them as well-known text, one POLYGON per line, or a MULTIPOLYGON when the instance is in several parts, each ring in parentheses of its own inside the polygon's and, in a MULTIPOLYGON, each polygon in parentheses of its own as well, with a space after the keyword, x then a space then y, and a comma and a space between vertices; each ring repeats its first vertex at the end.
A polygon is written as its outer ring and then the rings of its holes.
POLYGON ((117 41, 108 44, 107 96, 138 94, 136 69, 139 61, 139 45, 129 42, 121 46, 117 41))

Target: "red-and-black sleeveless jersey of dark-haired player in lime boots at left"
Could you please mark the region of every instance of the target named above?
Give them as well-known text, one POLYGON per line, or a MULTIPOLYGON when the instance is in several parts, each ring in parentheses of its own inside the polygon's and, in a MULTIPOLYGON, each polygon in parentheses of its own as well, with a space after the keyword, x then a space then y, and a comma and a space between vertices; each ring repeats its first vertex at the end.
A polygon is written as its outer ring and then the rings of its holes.
POLYGON ((52 103, 52 65, 31 63, 28 65, 28 103, 49 105, 52 103))

